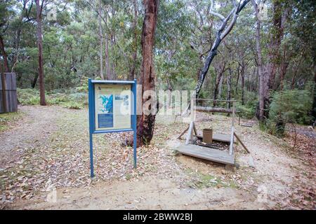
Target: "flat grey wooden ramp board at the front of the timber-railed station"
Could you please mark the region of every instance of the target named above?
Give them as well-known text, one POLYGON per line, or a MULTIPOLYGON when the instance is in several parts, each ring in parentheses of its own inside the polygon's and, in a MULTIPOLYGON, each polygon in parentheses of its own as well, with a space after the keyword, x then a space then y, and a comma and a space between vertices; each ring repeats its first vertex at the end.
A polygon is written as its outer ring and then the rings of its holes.
POLYGON ((197 145, 181 145, 176 148, 181 154, 190 155, 192 157, 219 162, 225 165, 235 165, 235 155, 230 155, 228 151, 220 151, 218 149, 206 148, 197 145))

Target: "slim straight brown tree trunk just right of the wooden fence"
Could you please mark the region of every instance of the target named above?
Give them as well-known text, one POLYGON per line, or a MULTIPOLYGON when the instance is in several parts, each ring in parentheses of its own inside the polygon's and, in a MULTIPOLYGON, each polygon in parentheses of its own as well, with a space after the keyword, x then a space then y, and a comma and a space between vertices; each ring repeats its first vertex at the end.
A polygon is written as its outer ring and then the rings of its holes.
POLYGON ((39 97, 41 106, 46 106, 45 87, 44 87, 44 67, 43 67, 43 38, 41 28, 41 12, 44 0, 36 0, 37 3, 37 47, 39 48, 39 97))

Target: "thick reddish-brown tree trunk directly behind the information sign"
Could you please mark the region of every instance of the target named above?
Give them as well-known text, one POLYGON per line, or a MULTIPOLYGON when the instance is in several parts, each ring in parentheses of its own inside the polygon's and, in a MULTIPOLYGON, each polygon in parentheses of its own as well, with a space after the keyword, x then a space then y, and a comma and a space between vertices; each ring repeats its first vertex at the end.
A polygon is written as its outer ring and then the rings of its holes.
POLYGON ((154 47, 154 33, 157 23, 157 13, 159 0, 144 0, 145 18, 143 22, 142 32, 142 56, 143 62, 141 66, 140 84, 142 85, 143 94, 143 113, 138 116, 137 123, 137 144, 143 146, 150 144, 154 134, 154 120, 156 118, 154 113, 147 114, 146 111, 152 111, 156 108, 157 102, 152 95, 144 95, 145 91, 154 91, 155 73, 153 63, 153 47, 154 47), (147 102, 147 103, 146 103, 147 102))

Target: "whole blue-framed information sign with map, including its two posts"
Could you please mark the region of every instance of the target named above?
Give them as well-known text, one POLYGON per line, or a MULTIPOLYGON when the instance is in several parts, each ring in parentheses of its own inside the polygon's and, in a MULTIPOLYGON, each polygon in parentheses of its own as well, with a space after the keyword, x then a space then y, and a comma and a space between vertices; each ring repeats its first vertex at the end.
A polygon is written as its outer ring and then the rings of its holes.
POLYGON ((133 159, 136 168, 136 89, 136 79, 88 80, 91 177, 94 177, 93 134, 133 132, 133 159))

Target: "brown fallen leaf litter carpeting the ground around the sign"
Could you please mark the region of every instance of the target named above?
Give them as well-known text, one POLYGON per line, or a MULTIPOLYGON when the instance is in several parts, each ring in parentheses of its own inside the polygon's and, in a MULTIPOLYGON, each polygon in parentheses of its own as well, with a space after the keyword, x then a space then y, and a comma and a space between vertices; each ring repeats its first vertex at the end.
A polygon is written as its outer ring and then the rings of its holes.
MULTIPOLYGON (((38 195, 47 195, 54 188, 93 188, 100 181, 114 179, 138 181, 145 175, 172 179, 178 183, 178 188, 184 186, 190 188, 229 187, 249 190, 256 187, 256 180, 244 170, 232 173, 219 168, 218 174, 208 172, 206 176, 200 175, 197 169, 193 169, 190 174, 185 173, 185 166, 176 161, 176 155, 171 148, 168 148, 166 142, 166 139, 173 141, 182 130, 185 130, 187 124, 184 123, 169 125, 157 123, 151 144, 137 149, 137 169, 133 169, 133 148, 121 146, 121 142, 128 139, 130 133, 95 135, 93 150, 96 179, 91 180, 86 111, 62 109, 58 113, 62 116, 59 120, 55 120, 57 130, 46 132, 39 141, 34 139, 35 141, 29 141, 28 144, 21 143, 21 146, 16 148, 19 157, 8 162, 6 167, 1 167, 1 204, 13 204, 17 200, 30 200, 38 195)), ((225 133, 229 130, 230 120, 225 117, 220 118, 222 119, 220 123, 214 123, 213 127, 218 132, 225 133)), ((207 127, 208 124, 199 123, 198 125, 202 128, 207 127)), ((250 131, 244 132, 244 135, 249 134, 251 134, 250 131)), ((258 139, 258 134, 253 134, 252 137, 258 139)), ((261 135, 259 138, 267 140, 261 135)), ((248 139, 251 144, 252 140, 248 139)), ((291 141, 290 137, 289 144, 292 143, 291 141)), ((290 204, 291 207, 300 209, 315 208, 315 172, 311 172, 316 167, 315 145, 312 145, 308 137, 299 136, 297 146, 300 153, 298 158, 301 158, 309 168, 295 171, 295 174, 298 173, 295 176, 297 181, 291 186, 294 190, 287 192, 287 195, 291 197, 284 200, 284 206, 290 204)), ((262 160, 270 159, 263 157, 262 160)), ((207 166, 204 168, 209 169, 207 166)), ((275 176, 273 178, 276 179, 275 176)), ((62 193, 61 197, 65 200, 71 198, 69 190, 64 190, 62 193)), ((140 203, 142 199, 137 198, 133 202, 140 203)))

